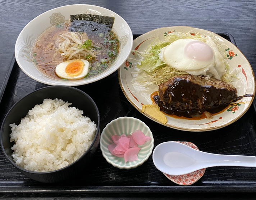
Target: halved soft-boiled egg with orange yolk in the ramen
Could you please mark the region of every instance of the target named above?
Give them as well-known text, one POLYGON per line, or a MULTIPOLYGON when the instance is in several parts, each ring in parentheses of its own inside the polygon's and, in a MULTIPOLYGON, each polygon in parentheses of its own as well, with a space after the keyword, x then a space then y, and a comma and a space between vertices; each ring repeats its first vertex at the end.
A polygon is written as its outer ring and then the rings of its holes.
POLYGON ((89 62, 84 59, 67 60, 56 66, 55 72, 60 78, 77 80, 88 74, 89 62))

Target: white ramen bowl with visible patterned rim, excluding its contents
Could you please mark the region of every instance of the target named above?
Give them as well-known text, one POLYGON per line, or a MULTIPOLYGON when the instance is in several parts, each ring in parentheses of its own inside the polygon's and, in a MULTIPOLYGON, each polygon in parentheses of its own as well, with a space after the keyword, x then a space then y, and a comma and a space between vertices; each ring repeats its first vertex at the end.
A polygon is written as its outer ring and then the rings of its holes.
POLYGON ((133 45, 132 31, 127 22, 118 14, 111 10, 86 4, 67 5, 55 8, 37 16, 30 21, 24 29, 20 32, 15 44, 15 58, 16 61, 24 73, 26 73, 32 79, 38 82, 48 85, 65 85, 65 86, 79 86, 83 84, 99 81, 102 78, 107 77, 111 73, 115 72, 128 58, 133 45), (113 16, 115 18, 113 24, 113 32, 118 36, 120 48, 119 55, 115 62, 109 69, 105 70, 99 75, 88 79, 79 80, 64 80, 54 79, 50 76, 40 72, 34 64, 33 57, 31 55, 32 45, 37 37, 46 29, 53 25, 58 25, 63 21, 70 20, 70 15, 77 14, 94 14, 102 16, 113 16))

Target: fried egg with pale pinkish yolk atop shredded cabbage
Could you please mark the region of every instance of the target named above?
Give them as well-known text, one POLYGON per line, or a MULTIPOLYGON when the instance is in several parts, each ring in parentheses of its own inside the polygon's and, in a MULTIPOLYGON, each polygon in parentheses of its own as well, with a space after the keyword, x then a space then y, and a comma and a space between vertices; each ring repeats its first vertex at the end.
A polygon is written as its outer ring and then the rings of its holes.
POLYGON ((160 50, 159 59, 192 75, 210 75, 220 80, 226 72, 223 55, 209 36, 206 43, 195 39, 175 40, 160 50))

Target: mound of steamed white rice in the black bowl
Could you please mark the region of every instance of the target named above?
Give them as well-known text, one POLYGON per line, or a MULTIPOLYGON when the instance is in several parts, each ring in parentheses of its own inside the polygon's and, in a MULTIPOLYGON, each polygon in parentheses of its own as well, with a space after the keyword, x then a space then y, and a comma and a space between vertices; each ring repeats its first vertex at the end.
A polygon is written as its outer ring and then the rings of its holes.
POLYGON ((61 99, 44 99, 17 126, 10 124, 14 162, 31 171, 52 171, 76 161, 90 147, 97 130, 83 111, 61 99))

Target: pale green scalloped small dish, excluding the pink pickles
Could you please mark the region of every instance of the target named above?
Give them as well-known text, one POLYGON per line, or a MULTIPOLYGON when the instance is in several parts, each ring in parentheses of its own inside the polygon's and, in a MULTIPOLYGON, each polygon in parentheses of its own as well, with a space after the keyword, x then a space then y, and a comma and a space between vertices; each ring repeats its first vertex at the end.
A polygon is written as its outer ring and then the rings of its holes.
POLYGON ((100 136, 100 150, 103 157, 111 165, 119 169, 133 169, 142 165, 152 154, 153 147, 154 138, 152 132, 144 122, 133 117, 119 117, 114 119, 103 129, 100 136), (146 136, 151 137, 151 140, 146 141, 143 145, 138 145, 138 147, 141 147, 138 153, 138 160, 125 162, 124 158, 116 157, 110 153, 108 145, 113 143, 111 139, 112 135, 131 135, 136 130, 141 130, 146 136))

